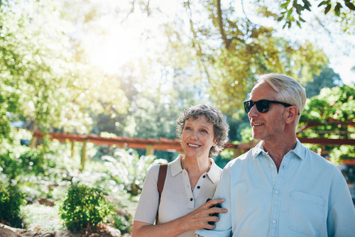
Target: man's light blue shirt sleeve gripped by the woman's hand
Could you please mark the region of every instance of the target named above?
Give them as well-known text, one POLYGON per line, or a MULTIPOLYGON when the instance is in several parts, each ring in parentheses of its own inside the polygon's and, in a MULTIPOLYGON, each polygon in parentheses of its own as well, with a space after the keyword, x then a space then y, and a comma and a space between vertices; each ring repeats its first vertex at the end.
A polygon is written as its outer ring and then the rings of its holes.
POLYGON ((198 237, 229 237, 231 236, 231 193, 229 192, 231 187, 231 170, 230 167, 225 167, 222 171, 221 177, 214 192, 213 199, 222 198, 224 202, 222 207, 227 209, 226 214, 219 214, 219 221, 215 223, 216 228, 213 230, 200 229, 195 232, 195 236, 198 237))

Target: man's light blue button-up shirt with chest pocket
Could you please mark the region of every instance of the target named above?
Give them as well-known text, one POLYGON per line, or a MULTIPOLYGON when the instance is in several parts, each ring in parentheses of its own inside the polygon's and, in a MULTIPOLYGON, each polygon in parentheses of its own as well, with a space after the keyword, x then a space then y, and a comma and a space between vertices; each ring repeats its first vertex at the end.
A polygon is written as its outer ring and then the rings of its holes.
POLYGON ((355 209, 344 176, 299 140, 277 171, 262 142, 231 160, 215 198, 224 199, 212 231, 197 236, 355 236, 355 209))

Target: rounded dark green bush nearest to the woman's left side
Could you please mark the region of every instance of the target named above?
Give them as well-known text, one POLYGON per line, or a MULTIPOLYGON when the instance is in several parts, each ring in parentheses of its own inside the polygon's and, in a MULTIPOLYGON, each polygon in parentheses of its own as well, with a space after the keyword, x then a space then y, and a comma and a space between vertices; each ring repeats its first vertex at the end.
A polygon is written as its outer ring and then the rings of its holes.
POLYGON ((97 188, 74 184, 67 192, 67 198, 60 207, 60 219, 70 230, 92 228, 114 214, 114 206, 105 199, 97 188))

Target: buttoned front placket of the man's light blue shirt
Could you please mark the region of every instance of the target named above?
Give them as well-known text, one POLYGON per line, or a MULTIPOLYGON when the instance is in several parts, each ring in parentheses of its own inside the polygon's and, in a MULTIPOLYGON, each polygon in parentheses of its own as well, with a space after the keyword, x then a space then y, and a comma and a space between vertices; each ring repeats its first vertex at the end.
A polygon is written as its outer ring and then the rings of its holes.
POLYGON ((286 177, 286 168, 290 162, 290 156, 286 155, 278 170, 278 177, 273 188, 273 207, 271 210, 270 236, 278 236, 278 224, 280 221, 281 193, 286 177))

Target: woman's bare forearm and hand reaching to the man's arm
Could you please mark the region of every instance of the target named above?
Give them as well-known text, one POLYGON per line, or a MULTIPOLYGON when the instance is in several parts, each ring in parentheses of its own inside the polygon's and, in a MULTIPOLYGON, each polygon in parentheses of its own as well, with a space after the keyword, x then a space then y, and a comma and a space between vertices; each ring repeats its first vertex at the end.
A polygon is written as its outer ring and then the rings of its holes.
POLYGON ((219 218, 217 216, 209 216, 209 214, 226 213, 227 210, 218 207, 209 207, 222 202, 224 202, 223 199, 210 200, 195 211, 165 224, 152 225, 142 221, 134 221, 132 237, 178 236, 185 231, 195 231, 200 228, 212 229, 214 225, 209 225, 208 221, 216 222, 219 218))

